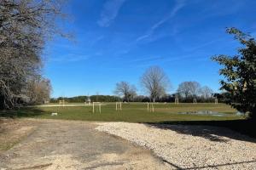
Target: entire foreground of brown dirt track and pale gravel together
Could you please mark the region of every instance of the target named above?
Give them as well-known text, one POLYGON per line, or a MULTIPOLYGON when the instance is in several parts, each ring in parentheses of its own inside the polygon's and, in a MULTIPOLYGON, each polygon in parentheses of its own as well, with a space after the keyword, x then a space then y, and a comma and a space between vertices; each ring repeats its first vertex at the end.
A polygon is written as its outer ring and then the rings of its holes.
POLYGON ((256 169, 256 140, 221 127, 0 120, 0 169, 256 169))

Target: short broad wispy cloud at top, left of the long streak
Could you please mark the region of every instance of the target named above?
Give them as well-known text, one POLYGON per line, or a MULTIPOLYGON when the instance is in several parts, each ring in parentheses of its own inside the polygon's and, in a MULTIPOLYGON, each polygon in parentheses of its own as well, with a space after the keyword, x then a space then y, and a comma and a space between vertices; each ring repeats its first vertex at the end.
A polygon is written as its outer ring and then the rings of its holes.
POLYGON ((102 27, 108 27, 119 14, 119 9, 125 3, 125 0, 108 0, 102 9, 101 19, 97 24, 102 27))

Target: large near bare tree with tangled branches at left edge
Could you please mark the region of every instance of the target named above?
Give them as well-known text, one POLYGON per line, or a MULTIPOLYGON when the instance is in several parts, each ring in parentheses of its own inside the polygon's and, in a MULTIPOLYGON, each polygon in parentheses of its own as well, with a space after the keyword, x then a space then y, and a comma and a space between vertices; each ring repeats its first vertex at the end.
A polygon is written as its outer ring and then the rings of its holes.
POLYGON ((0 1, 0 109, 15 107, 27 82, 39 76, 48 38, 59 33, 60 0, 0 1))

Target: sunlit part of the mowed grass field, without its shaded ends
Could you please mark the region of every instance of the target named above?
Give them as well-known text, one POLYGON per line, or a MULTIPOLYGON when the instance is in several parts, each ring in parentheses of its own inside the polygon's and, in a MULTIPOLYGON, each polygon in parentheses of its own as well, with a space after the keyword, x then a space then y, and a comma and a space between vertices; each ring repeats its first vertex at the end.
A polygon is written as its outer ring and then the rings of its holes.
POLYGON ((24 108, 17 112, 18 117, 37 117, 64 120, 96 122, 170 122, 170 121, 222 121, 243 119, 236 110, 224 104, 154 104, 154 112, 147 111, 147 104, 122 104, 122 111, 115 111, 115 103, 102 105, 102 113, 92 112, 92 105, 55 106, 24 108), (182 112, 217 111, 223 116, 181 114, 182 112), (58 116, 51 116, 57 112, 58 116))

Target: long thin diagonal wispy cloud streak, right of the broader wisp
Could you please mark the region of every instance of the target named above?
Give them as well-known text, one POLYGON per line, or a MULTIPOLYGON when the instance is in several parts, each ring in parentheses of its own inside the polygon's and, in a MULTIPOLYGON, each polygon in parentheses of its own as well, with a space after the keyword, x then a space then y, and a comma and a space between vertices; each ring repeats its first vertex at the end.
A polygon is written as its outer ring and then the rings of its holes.
POLYGON ((177 12, 181 8, 183 8, 183 6, 185 6, 185 1, 184 0, 177 0, 176 4, 172 8, 172 11, 169 14, 167 14, 163 19, 161 19, 160 21, 155 23, 153 26, 151 26, 150 29, 146 32, 146 34, 144 34, 143 36, 137 37, 136 42, 140 42, 143 39, 146 39, 148 37, 152 37, 152 35, 154 34, 154 31, 157 28, 159 28, 160 26, 162 26, 163 24, 165 24, 167 20, 171 20, 173 17, 175 17, 177 12))

